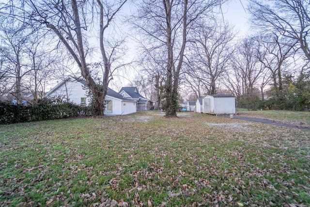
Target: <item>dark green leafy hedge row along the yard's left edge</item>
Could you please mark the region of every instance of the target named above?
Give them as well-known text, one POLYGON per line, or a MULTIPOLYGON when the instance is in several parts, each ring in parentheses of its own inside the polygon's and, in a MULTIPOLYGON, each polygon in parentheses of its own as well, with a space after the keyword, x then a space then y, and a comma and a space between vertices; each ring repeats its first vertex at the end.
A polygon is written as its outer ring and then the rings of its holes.
POLYGON ((88 107, 62 102, 56 98, 40 99, 38 103, 28 106, 0 102, 0 124, 60 119, 89 114, 88 107))

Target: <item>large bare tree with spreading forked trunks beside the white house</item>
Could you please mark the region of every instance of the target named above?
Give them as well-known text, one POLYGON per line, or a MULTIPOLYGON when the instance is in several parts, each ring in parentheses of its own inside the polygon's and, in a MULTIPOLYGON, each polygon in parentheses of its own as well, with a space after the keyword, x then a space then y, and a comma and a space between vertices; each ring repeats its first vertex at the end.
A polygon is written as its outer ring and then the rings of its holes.
MULTIPOLYGON (((22 8, 16 7, 10 1, 9 7, 2 7, 2 14, 22 16, 30 18, 31 26, 36 29, 46 29, 54 33, 58 40, 65 46, 80 69, 81 75, 86 80, 86 85, 93 94, 93 102, 96 115, 104 113, 104 98, 107 93, 109 81, 111 80, 111 64, 115 53, 123 41, 115 41, 112 45, 105 36, 105 31, 112 19, 120 11, 127 0, 110 2, 108 0, 77 1, 77 0, 21 0, 22 8), (5 10, 9 8, 9 10, 5 10), (16 13, 19 11, 19 14, 16 13), (96 19, 97 17, 97 19, 96 19), (88 34, 93 32, 94 21, 99 22, 98 42, 103 62, 103 77, 96 82, 87 65, 87 57, 90 52, 88 45, 88 34), (109 49, 106 46, 112 45, 109 49)), ((119 66, 118 66, 119 67, 119 66)), ((117 67, 114 67, 117 68, 117 67)))

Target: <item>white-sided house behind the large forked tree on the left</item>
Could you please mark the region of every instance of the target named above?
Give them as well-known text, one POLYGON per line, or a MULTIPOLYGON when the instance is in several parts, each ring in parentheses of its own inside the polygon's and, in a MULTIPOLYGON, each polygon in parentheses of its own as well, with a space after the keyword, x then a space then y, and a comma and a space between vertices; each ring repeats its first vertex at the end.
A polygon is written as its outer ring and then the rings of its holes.
MULTIPOLYGON (((64 96, 70 102, 81 105, 89 105, 90 98, 87 97, 85 88, 85 80, 79 80, 75 77, 68 76, 46 95, 64 96)), ((137 112, 137 101, 124 98, 116 91, 108 88, 106 96, 107 104, 105 105, 106 115, 124 115, 137 112)))

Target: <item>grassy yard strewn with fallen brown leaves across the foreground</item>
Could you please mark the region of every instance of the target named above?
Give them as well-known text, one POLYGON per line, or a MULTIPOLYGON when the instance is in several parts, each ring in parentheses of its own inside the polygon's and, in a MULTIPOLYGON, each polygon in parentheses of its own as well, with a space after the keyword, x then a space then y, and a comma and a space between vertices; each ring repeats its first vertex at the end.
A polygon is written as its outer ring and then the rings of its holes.
POLYGON ((0 126, 0 206, 310 206, 310 131, 179 116, 0 126))

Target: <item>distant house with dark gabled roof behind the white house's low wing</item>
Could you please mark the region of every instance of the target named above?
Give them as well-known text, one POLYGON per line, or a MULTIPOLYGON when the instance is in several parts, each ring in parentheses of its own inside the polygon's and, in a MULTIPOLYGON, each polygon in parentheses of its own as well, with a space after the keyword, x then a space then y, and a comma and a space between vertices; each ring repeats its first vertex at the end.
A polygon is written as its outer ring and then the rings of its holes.
POLYGON ((138 88, 136 86, 134 87, 122 87, 120 90, 120 95, 122 95, 124 98, 128 98, 133 101, 137 101, 138 111, 148 111, 154 109, 154 102, 141 96, 138 93, 138 88))

